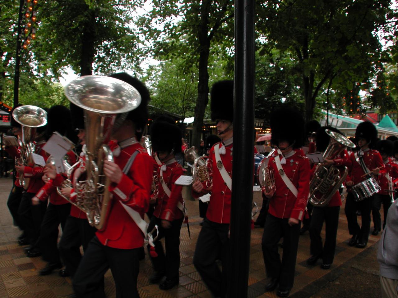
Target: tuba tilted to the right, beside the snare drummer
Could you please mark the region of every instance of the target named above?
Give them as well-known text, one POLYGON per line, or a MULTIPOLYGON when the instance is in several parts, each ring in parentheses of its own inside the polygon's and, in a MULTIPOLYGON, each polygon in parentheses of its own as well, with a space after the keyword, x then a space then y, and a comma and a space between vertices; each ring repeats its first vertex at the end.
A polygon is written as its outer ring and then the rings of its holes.
MULTIPOLYGON (((325 130, 325 132, 330 136, 330 141, 322 155, 324 159, 336 158, 345 147, 355 148, 354 143, 345 136, 331 130, 325 130)), ((308 199, 312 205, 316 207, 328 205, 348 174, 347 167, 343 168, 344 171, 341 173, 333 165, 328 167, 322 166, 321 163, 316 165, 314 176, 310 181, 310 197, 308 199)))

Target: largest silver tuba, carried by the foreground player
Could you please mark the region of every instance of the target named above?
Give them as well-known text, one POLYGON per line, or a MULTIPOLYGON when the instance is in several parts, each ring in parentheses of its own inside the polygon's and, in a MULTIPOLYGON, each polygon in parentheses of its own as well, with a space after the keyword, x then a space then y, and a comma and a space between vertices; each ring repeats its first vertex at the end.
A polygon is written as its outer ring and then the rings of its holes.
POLYGON ((103 161, 113 161, 106 145, 112 132, 124 121, 127 112, 141 103, 137 89, 130 84, 100 75, 86 75, 65 86, 65 95, 84 109, 86 143, 86 180, 74 186, 84 197, 77 201, 86 212, 88 222, 102 229, 109 212, 110 180, 103 174, 103 161))

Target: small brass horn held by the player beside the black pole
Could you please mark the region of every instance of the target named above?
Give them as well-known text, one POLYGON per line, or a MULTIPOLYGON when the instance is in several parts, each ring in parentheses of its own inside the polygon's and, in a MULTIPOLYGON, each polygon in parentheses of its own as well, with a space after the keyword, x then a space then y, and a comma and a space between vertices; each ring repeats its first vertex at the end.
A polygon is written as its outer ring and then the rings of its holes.
POLYGON ((199 156, 197 154, 196 147, 192 146, 187 151, 185 151, 184 158, 187 163, 193 163, 193 182, 205 182, 206 187, 210 188, 213 185, 213 181, 210 178, 209 170, 207 168, 207 160, 209 159, 209 157, 206 155, 199 156))

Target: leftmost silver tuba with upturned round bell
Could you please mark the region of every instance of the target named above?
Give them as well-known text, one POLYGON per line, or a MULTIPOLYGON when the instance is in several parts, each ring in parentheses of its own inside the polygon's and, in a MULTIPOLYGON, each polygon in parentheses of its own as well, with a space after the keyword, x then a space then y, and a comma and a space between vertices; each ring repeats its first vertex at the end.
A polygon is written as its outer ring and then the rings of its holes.
MULTIPOLYGON (((18 106, 12 112, 15 121, 21 124, 22 138, 20 141, 21 155, 16 159, 16 164, 21 163, 28 166, 32 153, 35 153, 36 129, 47 124, 47 112, 38 106, 18 106)), ((29 178, 23 175, 19 177, 20 185, 27 189, 29 186, 29 178)))

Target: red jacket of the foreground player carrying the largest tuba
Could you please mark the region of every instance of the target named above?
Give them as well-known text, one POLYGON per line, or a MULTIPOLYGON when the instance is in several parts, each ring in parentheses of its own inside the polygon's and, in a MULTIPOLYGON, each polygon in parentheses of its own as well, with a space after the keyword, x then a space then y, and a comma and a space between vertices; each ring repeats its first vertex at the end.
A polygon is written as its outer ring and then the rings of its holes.
POLYGON ((127 175, 123 173, 119 184, 112 183, 109 186, 113 195, 109 202, 109 215, 103 230, 96 232, 98 240, 112 248, 133 249, 144 244, 144 235, 119 201, 139 212, 141 218, 144 218, 149 207, 153 160, 139 143, 121 149, 120 155, 114 159, 123 170, 136 150, 139 150, 139 154, 127 175))

